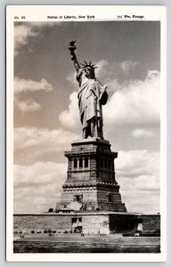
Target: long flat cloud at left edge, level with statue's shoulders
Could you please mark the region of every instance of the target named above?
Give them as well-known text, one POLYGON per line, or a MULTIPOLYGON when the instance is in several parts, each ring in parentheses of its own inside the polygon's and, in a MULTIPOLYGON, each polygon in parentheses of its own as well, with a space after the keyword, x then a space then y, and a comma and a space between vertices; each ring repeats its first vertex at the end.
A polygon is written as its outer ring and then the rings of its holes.
POLYGON ((19 77, 15 77, 14 79, 14 93, 26 93, 26 92, 37 92, 37 91, 45 91, 52 92, 53 86, 49 84, 44 78, 41 79, 40 82, 33 80, 26 80, 19 77))

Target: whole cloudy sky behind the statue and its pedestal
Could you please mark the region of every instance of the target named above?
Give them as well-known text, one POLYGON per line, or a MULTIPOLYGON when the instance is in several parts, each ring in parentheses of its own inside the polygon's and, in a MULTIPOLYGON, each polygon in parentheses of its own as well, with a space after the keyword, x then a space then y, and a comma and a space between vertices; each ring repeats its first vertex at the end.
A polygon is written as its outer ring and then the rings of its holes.
POLYGON ((14 213, 55 207, 67 179, 64 151, 81 138, 77 60, 107 85, 104 139, 118 152, 116 179, 128 212, 159 206, 159 21, 14 23, 14 213))

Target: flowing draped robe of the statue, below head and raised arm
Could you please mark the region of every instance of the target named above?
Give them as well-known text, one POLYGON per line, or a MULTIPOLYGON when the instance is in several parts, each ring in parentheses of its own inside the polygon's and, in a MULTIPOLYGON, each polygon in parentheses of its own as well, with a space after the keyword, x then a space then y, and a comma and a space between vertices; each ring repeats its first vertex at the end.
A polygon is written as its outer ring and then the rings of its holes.
POLYGON ((96 78, 85 77, 85 72, 77 72, 79 90, 77 93, 80 120, 83 137, 88 136, 103 139, 102 134, 102 105, 100 98, 105 87, 96 78))

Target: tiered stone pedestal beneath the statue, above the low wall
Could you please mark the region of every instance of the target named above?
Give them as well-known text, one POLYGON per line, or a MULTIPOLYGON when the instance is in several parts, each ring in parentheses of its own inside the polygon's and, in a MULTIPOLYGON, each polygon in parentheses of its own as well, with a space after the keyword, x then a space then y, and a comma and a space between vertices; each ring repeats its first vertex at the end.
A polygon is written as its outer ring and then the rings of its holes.
POLYGON ((74 142, 71 150, 65 151, 65 156, 68 176, 56 212, 126 212, 115 179, 114 159, 118 153, 110 150, 110 142, 100 139, 74 142))

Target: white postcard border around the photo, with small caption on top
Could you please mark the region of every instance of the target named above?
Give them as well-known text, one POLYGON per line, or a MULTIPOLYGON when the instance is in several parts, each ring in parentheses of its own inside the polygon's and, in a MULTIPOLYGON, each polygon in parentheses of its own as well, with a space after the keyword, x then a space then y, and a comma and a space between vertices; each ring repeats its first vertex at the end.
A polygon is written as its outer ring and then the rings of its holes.
MULTIPOLYGON (((123 19, 122 19, 123 20, 123 19)), ((130 20, 130 19, 125 19, 130 20)), ((62 20, 63 21, 63 20, 62 20)), ((69 20, 67 20, 69 21, 69 20)), ((90 21, 90 20, 89 20, 90 21)), ((13 262, 163 262, 167 256, 167 85, 166 85, 166 7, 165 6, 114 6, 114 5, 13 5, 6 9, 6 63, 7 63, 7 182, 6 182, 6 259, 13 262), (134 11, 134 12, 133 12, 134 11), (142 20, 161 22, 161 253, 160 254, 13 254, 12 252, 12 206, 13 206, 13 22, 14 16, 26 16, 25 21, 47 20, 48 15, 95 15, 95 20, 118 20, 118 14, 143 15, 142 20)))

